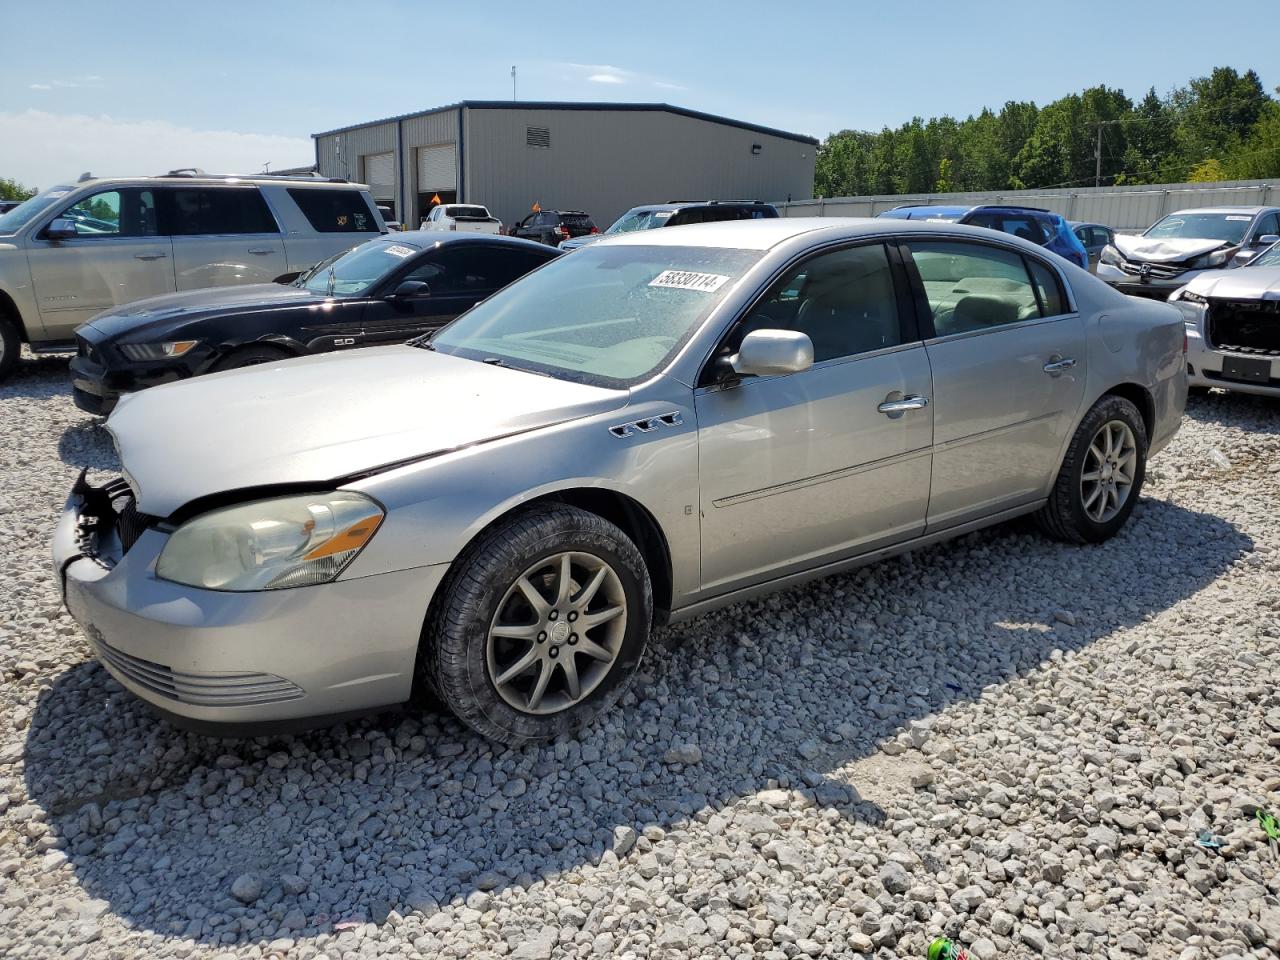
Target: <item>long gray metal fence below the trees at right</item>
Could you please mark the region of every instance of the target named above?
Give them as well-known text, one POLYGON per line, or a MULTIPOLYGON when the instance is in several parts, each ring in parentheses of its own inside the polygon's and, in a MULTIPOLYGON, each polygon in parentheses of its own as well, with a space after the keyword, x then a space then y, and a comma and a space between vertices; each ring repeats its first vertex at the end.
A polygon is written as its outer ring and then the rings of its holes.
MULTIPOLYGON (((773 196, 777 196, 776 193, 773 196)), ((997 193, 916 193, 893 197, 831 197, 777 204, 783 216, 876 216, 900 204, 1020 204, 1041 206, 1068 220, 1103 223, 1138 233, 1175 210, 1194 206, 1280 206, 1280 180, 1162 183, 1147 187, 1075 187, 997 193)))

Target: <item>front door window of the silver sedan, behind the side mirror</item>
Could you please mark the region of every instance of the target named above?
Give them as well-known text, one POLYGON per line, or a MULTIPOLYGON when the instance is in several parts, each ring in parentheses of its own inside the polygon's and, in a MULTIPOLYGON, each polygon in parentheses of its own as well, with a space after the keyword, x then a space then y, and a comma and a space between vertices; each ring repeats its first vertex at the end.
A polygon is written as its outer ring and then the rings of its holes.
POLYGON ((733 348, 746 333, 765 329, 808 334, 814 362, 900 344, 902 330, 884 244, 819 253, 792 268, 742 323, 733 348))

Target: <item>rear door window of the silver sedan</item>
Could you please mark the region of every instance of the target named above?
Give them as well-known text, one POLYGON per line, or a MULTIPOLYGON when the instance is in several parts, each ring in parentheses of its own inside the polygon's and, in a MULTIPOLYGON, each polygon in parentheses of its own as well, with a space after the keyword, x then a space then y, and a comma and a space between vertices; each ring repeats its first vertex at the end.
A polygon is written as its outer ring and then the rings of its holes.
MULTIPOLYGON (((914 241, 909 244, 938 337, 972 333, 1041 316, 1023 257, 982 243, 914 241)), ((1046 283, 1052 278, 1044 278, 1046 283)), ((1044 288, 1046 297, 1057 289, 1044 288)), ((1061 312, 1061 293, 1057 293, 1061 312)), ((1048 303, 1048 300, 1046 300, 1048 303)))

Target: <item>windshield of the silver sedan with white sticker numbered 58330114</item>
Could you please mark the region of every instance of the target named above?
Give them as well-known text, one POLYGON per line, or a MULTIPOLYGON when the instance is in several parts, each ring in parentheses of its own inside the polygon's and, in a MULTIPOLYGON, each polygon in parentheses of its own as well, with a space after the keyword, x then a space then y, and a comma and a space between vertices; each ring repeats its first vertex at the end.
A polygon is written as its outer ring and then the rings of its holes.
POLYGON ((664 366, 760 256, 716 247, 584 247, 472 307, 431 347, 627 387, 664 366))

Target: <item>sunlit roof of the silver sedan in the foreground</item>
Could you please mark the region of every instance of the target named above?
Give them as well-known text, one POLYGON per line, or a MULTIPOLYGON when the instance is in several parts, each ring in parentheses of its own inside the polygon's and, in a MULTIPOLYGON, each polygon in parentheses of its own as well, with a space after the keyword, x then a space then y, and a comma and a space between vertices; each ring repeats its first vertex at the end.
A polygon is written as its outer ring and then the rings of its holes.
MULTIPOLYGON (((991 241, 993 232, 984 227, 965 227, 963 224, 929 223, 904 219, 883 219, 870 216, 780 216, 768 220, 719 220, 717 223, 671 227, 662 230, 635 230, 602 237, 585 248, 599 246, 664 246, 664 247, 721 247, 726 250, 772 250, 781 243, 804 234, 826 234, 822 239, 858 239, 860 237, 884 237, 899 233, 920 233, 927 230, 955 233, 960 237, 974 237, 991 241)), ((1027 241, 1019 241, 1009 234, 1000 234, 1014 244, 1043 252, 1043 247, 1027 241)))

